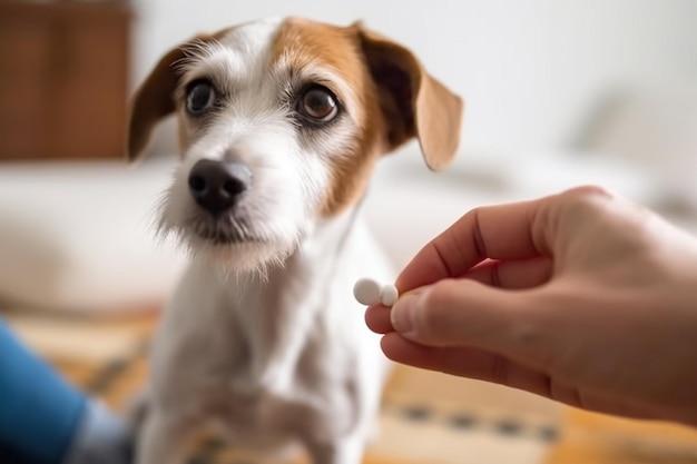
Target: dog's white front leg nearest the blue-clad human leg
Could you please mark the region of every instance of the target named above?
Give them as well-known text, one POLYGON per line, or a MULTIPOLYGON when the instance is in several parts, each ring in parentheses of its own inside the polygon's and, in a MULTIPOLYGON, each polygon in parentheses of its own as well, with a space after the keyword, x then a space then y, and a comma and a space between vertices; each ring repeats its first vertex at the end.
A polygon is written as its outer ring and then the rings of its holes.
POLYGON ((154 409, 143 424, 136 464, 184 464, 190 452, 192 422, 154 409))

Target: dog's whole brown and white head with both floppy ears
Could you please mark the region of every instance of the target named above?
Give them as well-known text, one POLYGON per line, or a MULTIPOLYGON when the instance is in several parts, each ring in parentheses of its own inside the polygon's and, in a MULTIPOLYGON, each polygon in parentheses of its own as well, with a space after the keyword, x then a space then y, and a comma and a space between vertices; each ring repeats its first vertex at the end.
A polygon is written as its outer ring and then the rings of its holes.
POLYGON ((361 24, 257 21, 161 58, 136 93, 128 157, 176 113, 183 157, 163 228, 249 269, 354 205, 376 159, 411 138, 430 168, 445 167, 462 106, 408 49, 361 24))

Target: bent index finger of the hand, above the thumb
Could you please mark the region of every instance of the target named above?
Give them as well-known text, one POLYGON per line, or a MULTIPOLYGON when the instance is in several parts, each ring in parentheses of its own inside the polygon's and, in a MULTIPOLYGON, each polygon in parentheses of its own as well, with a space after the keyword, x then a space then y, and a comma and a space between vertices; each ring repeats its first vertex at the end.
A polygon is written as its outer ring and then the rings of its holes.
POLYGON ((527 259, 544 255, 533 239, 533 225, 554 197, 479 207, 426 244, 396 279, 401 293, 459 277, 490 259, 527 259))

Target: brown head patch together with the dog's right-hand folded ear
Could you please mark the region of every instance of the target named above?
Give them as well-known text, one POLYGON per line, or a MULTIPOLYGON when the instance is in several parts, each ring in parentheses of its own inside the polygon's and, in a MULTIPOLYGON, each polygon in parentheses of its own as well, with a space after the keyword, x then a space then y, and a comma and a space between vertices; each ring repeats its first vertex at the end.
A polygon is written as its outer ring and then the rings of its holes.
POLYGON ((347 110, 359 134, 347 152, 331 160, 322 217, 357 201, 379 156, 414 137, 431 169, 445 168, 454 157, 463 101, 432 78, 409 49, 361 23, 340 28, 292 18, 281 26, 272 53, 291 61, 292 69, 316 63, 331 69, 354 93, 355 107, 347 110))

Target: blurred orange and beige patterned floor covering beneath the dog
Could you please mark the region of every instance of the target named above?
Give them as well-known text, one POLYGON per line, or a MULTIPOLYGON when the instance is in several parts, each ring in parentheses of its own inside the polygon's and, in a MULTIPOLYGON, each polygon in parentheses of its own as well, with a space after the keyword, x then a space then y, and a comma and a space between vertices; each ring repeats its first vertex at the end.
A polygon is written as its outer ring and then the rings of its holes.
MULTIPOLYGON (((155 312, 108 322, 3 316, 71 382, 114 409, 141 387, 155 312)), ((402 366, 385 387, 379 425, 364 464, 697 463, 697 431, 687 427, 585 413, 402 366)), ((215 441, 204 441, 198 454, 197 463, 266 463, 215 441)))

